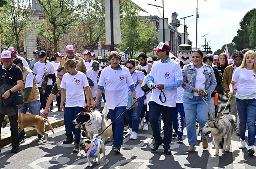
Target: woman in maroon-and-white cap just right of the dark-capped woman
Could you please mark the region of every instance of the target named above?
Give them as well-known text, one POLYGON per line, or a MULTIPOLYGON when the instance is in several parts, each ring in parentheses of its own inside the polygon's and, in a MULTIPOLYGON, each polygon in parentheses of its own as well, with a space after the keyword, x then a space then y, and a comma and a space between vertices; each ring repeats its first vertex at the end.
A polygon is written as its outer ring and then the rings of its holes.
MULTIPOLYGON (((61 55, 60 52, 57 52, 53 55, 53 58, 54 60, 51 62, 54 66, 54 71, 55 71, 55 76, 57 77, 57 70, 59 68, 59 65, 60 65, 60 60, 63 58, 64 55, 61 55)), ((56 81, 56 78, 53 78, 52 79, 52 84, 54 85, 56 81)), ((60 96, 59 95, 56 95, 56 101, 57 101, 57 104, 58 104, 58 110, 60 111, 60 96)), ((53 102, 51 103, 51 106, 50 106, 50 110, 53 109, 53 102)))

